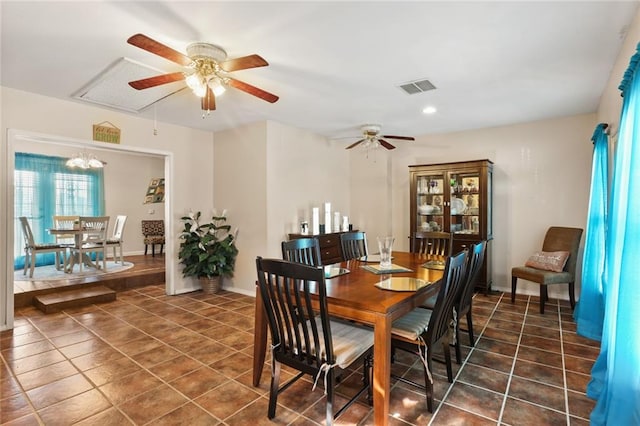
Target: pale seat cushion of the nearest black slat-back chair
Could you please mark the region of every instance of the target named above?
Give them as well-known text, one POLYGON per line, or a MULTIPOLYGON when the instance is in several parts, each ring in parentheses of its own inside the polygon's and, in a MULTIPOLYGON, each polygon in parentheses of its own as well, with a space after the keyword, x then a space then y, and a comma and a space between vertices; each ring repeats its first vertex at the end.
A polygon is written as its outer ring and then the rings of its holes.
MULTIPOLYGON (((316 317, 318 329, 322 329, 320 317, 316 317)), ((349 367, 355 360, 360 358, 371 346, 373 346, 373 331, 345 323, 342 321, 330 321, 331 337, 333 340, 333 354, 336 357, 336 364, 342 369, 349 367)), ((320 338, 320 356, 326 358, 324 340, 320 338)))

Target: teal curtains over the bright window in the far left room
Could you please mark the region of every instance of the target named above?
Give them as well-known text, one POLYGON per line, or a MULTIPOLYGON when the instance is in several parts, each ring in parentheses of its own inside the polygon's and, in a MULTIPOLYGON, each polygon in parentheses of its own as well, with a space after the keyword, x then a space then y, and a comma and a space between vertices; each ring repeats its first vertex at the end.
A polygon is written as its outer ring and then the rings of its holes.
MULTIPOLYGON (((66 167, 67 158, 18 152, 14 171, 14 268, 24 267, 24 236, 19 217, 29 220, 37 243, 54 242, 47 229, 54 215, 104 214, 102 169, 66 167)), ((54 254, 39 254, 36 265, 52 265, 54 254)))

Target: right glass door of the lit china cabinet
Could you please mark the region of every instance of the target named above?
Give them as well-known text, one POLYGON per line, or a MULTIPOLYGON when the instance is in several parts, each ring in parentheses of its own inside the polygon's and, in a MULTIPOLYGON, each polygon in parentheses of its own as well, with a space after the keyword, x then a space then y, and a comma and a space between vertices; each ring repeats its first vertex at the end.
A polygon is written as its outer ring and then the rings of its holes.
POLYGON ((449 174, 451 233, 480 234, 480 184, 480 170, 449 174))

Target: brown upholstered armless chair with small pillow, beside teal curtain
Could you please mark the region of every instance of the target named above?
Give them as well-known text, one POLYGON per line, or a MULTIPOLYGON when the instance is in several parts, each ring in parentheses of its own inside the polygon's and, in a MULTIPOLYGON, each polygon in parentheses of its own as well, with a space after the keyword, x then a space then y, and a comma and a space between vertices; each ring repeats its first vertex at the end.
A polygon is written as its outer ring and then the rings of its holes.
MULTIPOLYGON (((576 262, 578 260, 578 249, 580 247, 580 239, 582 238, 582 229, 566 228, 560 226, 552 226, 547 230, 542 243, 542 253, 539 256, 548 254, 547 260, 552 259, 560 252, 565 252, 564 267, 559 267, 555 271, 547 270, 547 264, 533 263, 534 266, 517 266, 511 269, 511 303, 515 302, 516 286, 518 278, 532 281, 540 285, 540 313, 544 314, 544 304, 549 300, 547 286, 552 284, 569 284, 569 301, 571 309, 575 308, 575 272, 576 262)), ((549 263, 551 264, 551 263, 549 263)))

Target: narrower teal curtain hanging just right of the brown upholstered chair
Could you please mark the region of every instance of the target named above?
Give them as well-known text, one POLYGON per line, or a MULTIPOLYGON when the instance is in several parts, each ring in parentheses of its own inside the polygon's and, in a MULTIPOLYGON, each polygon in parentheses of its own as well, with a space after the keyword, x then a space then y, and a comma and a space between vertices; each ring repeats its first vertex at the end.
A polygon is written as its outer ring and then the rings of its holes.
POLYGON ((604 322, 604 253, 607 221, 607 184, 609 177, 609 136, 607 125, 596 126, 593 141, 593 166, 591 168, 591 191, 589 213, 585 233, 584 257, 582 260, 582 287, 580 301, 573 317, 577 333, 593 340, 602 339, 604 322))

